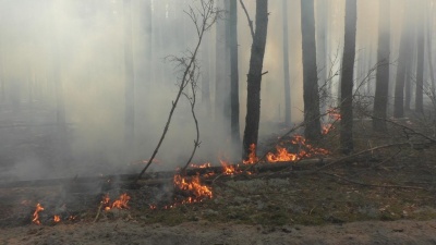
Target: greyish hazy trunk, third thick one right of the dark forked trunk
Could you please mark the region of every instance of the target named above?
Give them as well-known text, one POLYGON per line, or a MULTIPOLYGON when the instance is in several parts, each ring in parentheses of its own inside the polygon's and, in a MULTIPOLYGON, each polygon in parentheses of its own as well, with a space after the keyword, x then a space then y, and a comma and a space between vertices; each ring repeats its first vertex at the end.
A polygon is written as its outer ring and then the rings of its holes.
POLYGON ((374 131, 386 131, 388 93, 389 93, 389 53, 390 53, 390 0, 378 5, 378 51, 377 74, 374 98, 374 131))

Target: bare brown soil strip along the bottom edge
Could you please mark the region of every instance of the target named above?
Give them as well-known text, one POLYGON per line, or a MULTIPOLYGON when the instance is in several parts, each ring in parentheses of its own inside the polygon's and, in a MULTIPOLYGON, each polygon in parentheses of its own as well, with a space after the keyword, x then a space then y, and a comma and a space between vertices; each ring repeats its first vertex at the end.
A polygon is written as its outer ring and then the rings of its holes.
POLYGON ((136 220, 0 230, 1 244, 436 244, 436 220, 263 226, 208 221, 174 226, 136 220))

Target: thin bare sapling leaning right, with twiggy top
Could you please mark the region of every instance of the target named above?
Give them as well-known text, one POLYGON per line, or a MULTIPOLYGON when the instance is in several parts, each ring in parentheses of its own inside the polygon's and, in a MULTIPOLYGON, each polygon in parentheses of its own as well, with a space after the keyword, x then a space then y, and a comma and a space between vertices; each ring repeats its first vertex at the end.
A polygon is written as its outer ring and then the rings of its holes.
MULTIPOLYGON (((198 40, 194 48, 194 51, 190 52, 189 57, 177 58, 179 61, 182 61, 182 64, 184 65, 184 71, 183 71, 183 75, 180 79, 178 94, 175 96, 175 99, 172 101, 172 107, 171 107, 170 113, 168 115, 168 120, 165 125, 162 135, 160 136, 159 143, 157 144, 150 159, 148 160, 148 163, 144 167, 144 169, 137 175, 134 183, 136 183, 142 177, 142 175, 145 173, 145 171, 148 169, 148 167, 152 164, 153 160, 155 159, 155 157, 160 148, 160 145, 162 144, 164 138, 167 135, 167 132, 168 132, 168 128, 169 128, 169 125, 170 125, 170 122, 172 119, 172 114, 174 113, 174 110, 179 102, 179 99, 182 96, 182 94, 184 93, 183 91, 184 88, 190 84, 192 74, 195 74, 193 72, 195 72, 196 56, 198 53, 198 49, 202 44, 203 36, 215 24, 217 19, 220 16, 220 13, 221 13, 221 11, 217 10, 214 7, 214 0, 199 1, 199 7, 196 8, 195 10, 193 8, 190 8, 190 12, 187 13, 187 15, 190 15, 192 22, 195 25, 195 28, 197 30, 198 40), (198 19, 198 17, 201 17, 201 19, 198 19)), ((197 147, 198 142, 195 144, 196 144, 195 147, 197 147)))

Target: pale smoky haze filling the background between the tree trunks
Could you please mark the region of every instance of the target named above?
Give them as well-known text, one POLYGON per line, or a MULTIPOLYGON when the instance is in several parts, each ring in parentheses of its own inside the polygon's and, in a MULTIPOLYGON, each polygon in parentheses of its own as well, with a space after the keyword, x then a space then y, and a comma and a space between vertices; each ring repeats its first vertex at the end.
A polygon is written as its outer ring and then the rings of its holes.
MULTIPOLYGON (((344 0, 328 1, 327 66, 340 69, 343 48, 344 0), (334 58, 337 57, 335 60, 334 58), (331 62, 330 62, 331 61, 331 62)), ((177 93, 177 70, 166 62, 170 54, 181 56, 196 44, 193 24, 183 10, 191 0, 132 0, 132 42, 135 74, 135 144, 124 151, 124 16, 121 0, 0 0, 0 134, 3 142, 3 173, 17 177, 94 174, 137 170, 131 161, 148 159, 164 130, 177 93), (147 11, 147 7, 150 10, 147 11), (50 126, 10 127, 16 120, 27 124, 56 123, 56 87, 63 85, 63 101, 69 125, 69 151, 51 159, 37 147, 23 150, 23 142, 53 132, 50 126), (1 127, 5 125, 5 127, 1 127), (3 137, 4 138, 4 137, 3 137), (17 139, 19 138, 19 139, 17 139), (16 140, 15 140, 16 139, 16 140), (3 139, 4 140, 4 139, 3 139), (15 144, 15 145, 14 145, 15 144), (26 157, 9 157, 21 155, 26 157), (68 155, 65 160, 64 155, 68 155)), ((378 0, 359 0, 355 78, 366 75, 376 63, 378 0), (371 54, 372 53, 372 54, 371 54), (370 57, 372 56, 372 57, 370 57)), ((254 20, 255 1, 246 0, 254 20)), ((261 135, 267 135, 283 121, 282 1, 269 1, 267 48, 262 85, 261 135)), ((404 0, 391 1, 391 60, 398 58, 398 40, 404 0)), ((417 4, 417 3, 416 3, 417 4)), ((238 4, 239 5, 239 4, 238 4)), ((315 8, 316 9, 316 8, 315 8)), ((246 74, 252 38, 243 10, 238 9, 240 124, 244 128, 246 74)), ((318 11, 318 10, 317 10, 318 11)), ((302 51, 300 0, 288 1, 289 57, 292 120, 302 120, 302 51)), ((196 108, 201 126, 201 147, 195 162, 217 162, 229 154, 229 137, 223 125, 214 123, 215 28, 207 34, 208 76, 211 108, 196 108)), ((434 46, 435 47, 435 46, 434 46)), ((199 61, 204 61, 199 56, 199 61)), ((206 68, 204 68, 206 69, 206 68)), ((322 69, 318 66, 318 70, 322 69)), ((219 71, 218 71, 219 72, 219 71)), ((391 69, 391 81, 395 69, 391 69)), ((374 74, 375 75, 375 74, 374 74)), ((337 83, 339 76, 332 79, 337 83)), ((374 83, 374 81, 370 81, 374 83)), ((199 88, 202 89, 202 88, 199 88)), ((337 90, 332 89, 332 93, 337 90)), ((185 99, 177 108, 170 131, 157 155, 155 169, 174 169, 185 163, 194 145, 195 127, 185 99)), ((35 144, 39 144, 38 140, 35 144)), ((56 142, 53 143, 56 145, 56 142)), ((48 150, 50 151, 50 150, 48 150)), ((51 152, 50 152, 51 154, 51 152)))

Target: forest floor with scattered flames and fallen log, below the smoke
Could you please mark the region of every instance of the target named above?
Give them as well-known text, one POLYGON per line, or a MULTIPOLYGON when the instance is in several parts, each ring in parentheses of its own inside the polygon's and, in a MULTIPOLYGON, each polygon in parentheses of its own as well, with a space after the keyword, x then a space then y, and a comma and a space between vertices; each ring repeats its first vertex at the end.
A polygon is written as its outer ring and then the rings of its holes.
POLYGON ((150 172, 134 188, 122 176, 0 188, 1 242, 434 244, 436 147, 399 144, 391 135, 401 128, 365 128, 355 132, 360 149, 392 146, 342 158, 335 130, 316 146, 276 135, 259 144, 256 166, 221 158, 186 176, 150 172))

